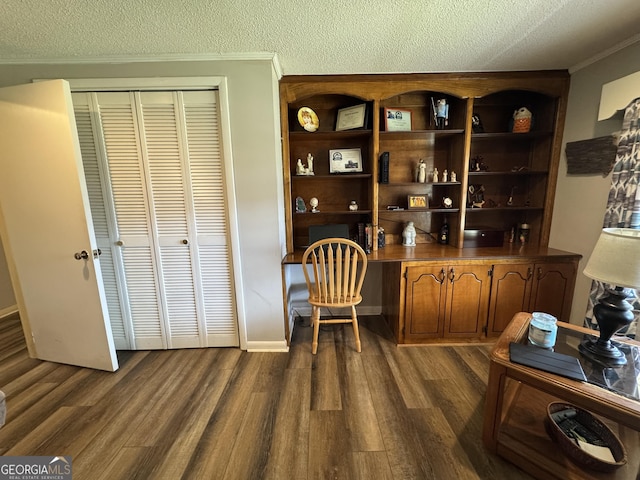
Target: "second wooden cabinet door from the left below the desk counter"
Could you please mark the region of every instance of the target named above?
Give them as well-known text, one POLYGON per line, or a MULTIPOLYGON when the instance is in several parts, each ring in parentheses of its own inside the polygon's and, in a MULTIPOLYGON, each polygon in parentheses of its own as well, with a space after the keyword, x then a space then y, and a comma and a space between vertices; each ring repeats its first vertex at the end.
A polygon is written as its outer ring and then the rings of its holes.
POLYGON ((491 287, 488 265, 453 265, 447 271, 445 337, 476 337, 487 319, 491 287))

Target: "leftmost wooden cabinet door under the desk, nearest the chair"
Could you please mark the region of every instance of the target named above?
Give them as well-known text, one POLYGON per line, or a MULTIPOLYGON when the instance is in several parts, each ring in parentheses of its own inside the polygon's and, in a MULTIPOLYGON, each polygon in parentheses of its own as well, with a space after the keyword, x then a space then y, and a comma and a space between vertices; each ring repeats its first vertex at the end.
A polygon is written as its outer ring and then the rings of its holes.
POLYGON ((446 267, 407 267, 404 339, 407 343, 442 337, 444 330, 446 267))

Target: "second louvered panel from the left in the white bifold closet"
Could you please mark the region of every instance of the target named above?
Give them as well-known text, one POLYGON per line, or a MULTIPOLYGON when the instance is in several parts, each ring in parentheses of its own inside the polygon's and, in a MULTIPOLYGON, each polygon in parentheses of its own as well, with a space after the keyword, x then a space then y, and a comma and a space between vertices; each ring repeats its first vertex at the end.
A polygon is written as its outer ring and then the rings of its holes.
POLYGON ((91 95, 99 112, 98 143, 105 157, 103 184, 110 197, 110 234, 116 269, 126 292, 120 299, 122 311, 128 314, 131 348, 168 348, 135 95, 91 95))

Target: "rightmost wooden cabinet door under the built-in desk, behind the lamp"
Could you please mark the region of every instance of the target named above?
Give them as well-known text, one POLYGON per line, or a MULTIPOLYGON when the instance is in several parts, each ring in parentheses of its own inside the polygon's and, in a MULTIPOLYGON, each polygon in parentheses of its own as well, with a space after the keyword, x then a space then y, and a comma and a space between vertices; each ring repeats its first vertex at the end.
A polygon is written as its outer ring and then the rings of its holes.
POLYGON ((576 270, 575 263, 536 264, 528 311, 550 313, 558 320, 568 322, 576 270))

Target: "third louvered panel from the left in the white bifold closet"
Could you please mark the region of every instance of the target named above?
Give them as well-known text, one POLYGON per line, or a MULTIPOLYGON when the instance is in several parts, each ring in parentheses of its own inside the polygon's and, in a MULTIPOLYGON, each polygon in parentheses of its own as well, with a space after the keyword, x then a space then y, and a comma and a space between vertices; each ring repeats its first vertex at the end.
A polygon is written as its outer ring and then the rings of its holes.
POLYGON ((147 167, 151 216, 157 239, 158 274, 167 318, 169 348, 206 346, 195 231, 190 221, 191 197, 187 149, 180 128, 178 94, 136 94, 141 120, 143 157, 147 167))

